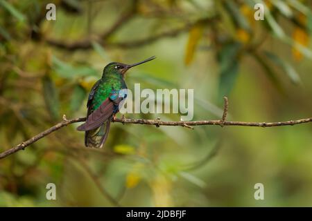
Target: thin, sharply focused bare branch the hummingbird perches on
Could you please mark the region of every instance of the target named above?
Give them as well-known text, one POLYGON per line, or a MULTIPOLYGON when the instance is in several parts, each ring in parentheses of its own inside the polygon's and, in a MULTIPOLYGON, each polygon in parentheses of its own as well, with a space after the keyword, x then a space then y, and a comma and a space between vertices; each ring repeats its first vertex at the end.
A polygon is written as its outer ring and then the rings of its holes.
MULTIPOLYGON (((257 126, 257 127, 272 127, 272 126, 293 126, 296 124, 305 124, 312 122, 312 117, 305 118, 305 119, 296 119, 296 120, 289 120, 286 122, 231 122, 227 121, 227 111, 228 111, 228 100, 227 97, 224 97, 224 109, 223 109, 223 116, 222 119, 211 119, 211 120, 200 120, 200 121, 193 121, 193 122, 187 122, 187 121, 178 121, 178 122, 164 122, 161 121, 160 118, 157 119, 129 119, 122 117, 121 119, 114 119, 114 122, 119 122, 122 124, 146 124, 146 125, 152 125, 152 126, 182 126, 187 128, 192 128, 192 126, 200 126, 200 125, 218 125, 218 126, 257 126)), ((39 133, 35 135, 34 137, 31 137, 31 139, 26 140, 24 142, 21 142, 21 144, 18 144, 15 147, 12 147, 8 149, 7 151, 3 151, 0 153, 0 159, 7 157, 8 155, 11 155, 13 153, 16 153, 17 151, 24 150, 26 146, 29 146, 38 140, 42 139, 46 135, 49 135, 50 133, 53 133, 54 131, 58 131, 60 128, 67 126, 69 124, 77 123, 77 122, 85 122, 86 117, 78 117, 75 119, 66 119, 66 116, 63 116, 62 122, 55 124, 55 126, 52 126, 51 128, 47 129, 46 131, 43 131, 42 133, 39 133)))

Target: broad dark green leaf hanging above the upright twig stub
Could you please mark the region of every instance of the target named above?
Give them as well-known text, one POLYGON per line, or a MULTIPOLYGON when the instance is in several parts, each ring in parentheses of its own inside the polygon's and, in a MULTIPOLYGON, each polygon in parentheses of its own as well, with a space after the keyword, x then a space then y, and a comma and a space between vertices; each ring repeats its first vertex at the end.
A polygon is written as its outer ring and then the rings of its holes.
POLYGON ((238 52, 240 44, 232 43, 224 46, 218 53, 220 64, 219 95, 229 95, 239 72, 238 52))

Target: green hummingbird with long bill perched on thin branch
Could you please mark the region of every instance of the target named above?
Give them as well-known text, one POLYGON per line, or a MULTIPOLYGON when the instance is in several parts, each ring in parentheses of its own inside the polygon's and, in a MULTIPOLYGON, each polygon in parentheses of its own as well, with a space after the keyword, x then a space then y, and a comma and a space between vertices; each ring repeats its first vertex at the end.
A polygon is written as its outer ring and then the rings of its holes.
POLYGON ((87 119, 77 128, 78 131, 85 131, 85 146, 103 146, 110 131, 110 122, 119 112, 119 104, 127 97, 125 73, 130 68, 153 59, 155 56, 135 64, 111 62, 105 66, 101 79, 96 81, 89 93, 87 119))

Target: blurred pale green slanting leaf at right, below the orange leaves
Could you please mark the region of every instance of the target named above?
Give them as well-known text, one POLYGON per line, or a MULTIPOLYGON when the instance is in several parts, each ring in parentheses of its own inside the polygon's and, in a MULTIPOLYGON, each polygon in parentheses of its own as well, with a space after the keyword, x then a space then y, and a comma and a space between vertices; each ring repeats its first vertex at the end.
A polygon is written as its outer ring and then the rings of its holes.
POLYGON ((287 76, 291 79, 291 81, 293 81, 294 84, 300 83, 301 81, 300 75, 298 75, 297 71, 295 70, 295 68, 293 68, 293 66, 288 64, 283 59, 280 59, 279 57, 277 57, 277 55, 272 54, 271 52, 265 51, 264 54, 271 61, 277 64, 277 66, 281 67, 284 70, 284 72, 287 74, 287 76))

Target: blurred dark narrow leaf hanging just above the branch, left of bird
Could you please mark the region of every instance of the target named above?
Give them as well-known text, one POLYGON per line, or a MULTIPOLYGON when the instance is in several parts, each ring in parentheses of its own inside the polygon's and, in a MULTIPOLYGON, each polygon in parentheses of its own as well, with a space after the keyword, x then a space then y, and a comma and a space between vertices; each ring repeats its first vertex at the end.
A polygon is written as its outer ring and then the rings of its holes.
POLYGON ((55 87, 55 84, 52 81, 51 77, 49 77, 49 75, 46 75, 42 78, 42 86, 46 108, 49 111, 51 118, 53 120, 56 120, 60 117, 59 114, 60 103, 58 98, 58 90, 55 87))

